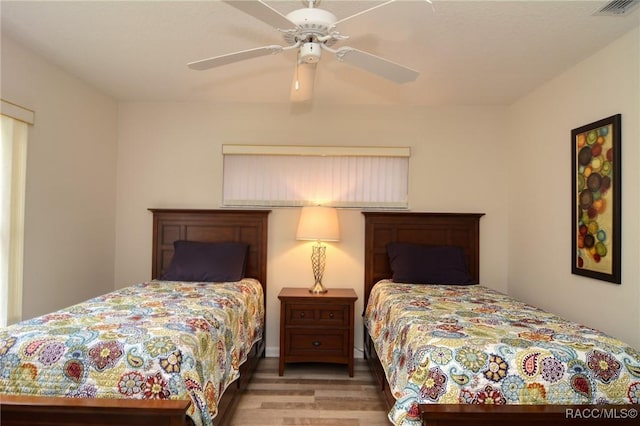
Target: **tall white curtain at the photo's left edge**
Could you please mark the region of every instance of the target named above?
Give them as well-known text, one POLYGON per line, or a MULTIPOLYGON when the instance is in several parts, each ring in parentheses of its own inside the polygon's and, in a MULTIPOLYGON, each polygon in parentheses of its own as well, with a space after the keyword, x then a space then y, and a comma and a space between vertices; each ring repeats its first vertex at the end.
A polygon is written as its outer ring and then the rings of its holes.
POLYGON ((0 149, 0 326, 22 319, 24 198, 28 124, 4 115, 0 149))

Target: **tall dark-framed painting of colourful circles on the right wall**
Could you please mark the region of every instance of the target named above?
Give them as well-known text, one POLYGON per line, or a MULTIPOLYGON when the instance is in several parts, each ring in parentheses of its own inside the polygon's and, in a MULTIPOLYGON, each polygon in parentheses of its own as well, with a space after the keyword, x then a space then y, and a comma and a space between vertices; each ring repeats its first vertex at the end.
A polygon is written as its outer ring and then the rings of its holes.
POLYGON ((571 272, 621 284, 621 114, 571 131, 571 272))

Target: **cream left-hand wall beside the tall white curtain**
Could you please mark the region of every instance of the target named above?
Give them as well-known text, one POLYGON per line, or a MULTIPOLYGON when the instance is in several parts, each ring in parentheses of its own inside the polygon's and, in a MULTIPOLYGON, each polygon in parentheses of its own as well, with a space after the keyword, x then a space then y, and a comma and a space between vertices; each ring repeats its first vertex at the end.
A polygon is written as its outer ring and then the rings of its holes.
POLYGON ((113 290, 117 103, 2 37, 2 98, 29 129, 23 317, 113 290))

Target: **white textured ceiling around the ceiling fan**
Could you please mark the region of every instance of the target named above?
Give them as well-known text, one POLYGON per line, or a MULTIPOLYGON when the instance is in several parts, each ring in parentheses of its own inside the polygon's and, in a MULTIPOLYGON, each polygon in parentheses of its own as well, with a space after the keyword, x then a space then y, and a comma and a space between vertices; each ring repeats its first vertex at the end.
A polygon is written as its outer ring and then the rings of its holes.
MULTIPOLYGON (((300 0, 267 1, 283 14, 300 0)), ((380 1, 322 0, 339 19, 380 1)), ((314 102, 504 105, 640 24, 594 16, 605 1, 398 0, 341 24, 352 46, 420 71, 396 85, 323 55, 314 102)), ((217 0, 2 0, 10 37, 121 100, 289 102, 295 54, 207 71, 186 63, 282 44, 278 31, 217 0)))

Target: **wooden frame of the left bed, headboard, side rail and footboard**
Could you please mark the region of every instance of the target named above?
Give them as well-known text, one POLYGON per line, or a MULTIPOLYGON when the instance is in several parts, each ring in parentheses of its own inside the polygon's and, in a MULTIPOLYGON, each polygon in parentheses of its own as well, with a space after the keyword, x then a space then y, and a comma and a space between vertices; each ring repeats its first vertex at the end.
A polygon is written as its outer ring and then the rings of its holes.
MULTIPOLYGON (((246 276, 260 281, 266 301, 269 210, 149 210, 153 213, 152 278, 161 277, 169 266, 175 240, 243 242, 249 244, 246 276)), ((222 395, 215 418, 216 426, 230 423, 240 394, 264 355, 263 335, 241 366, 240 378, 222 395)), ((184 426, 192 423, 186 415, 190 403, 188 400, 0 395, 0 424, 184 426)))

